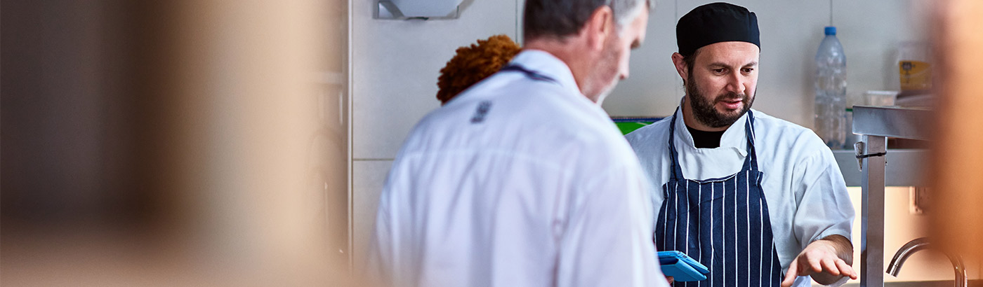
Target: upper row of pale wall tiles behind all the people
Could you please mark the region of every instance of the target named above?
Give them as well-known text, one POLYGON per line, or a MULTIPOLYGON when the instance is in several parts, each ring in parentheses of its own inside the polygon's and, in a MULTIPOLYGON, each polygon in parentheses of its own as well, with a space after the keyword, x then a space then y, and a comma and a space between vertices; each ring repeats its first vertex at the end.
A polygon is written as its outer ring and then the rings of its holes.
MULTIPOLYGON (((454 49, 495 33, 516 37, 522 0, 474 0, 458 20, 379 21, 373 0, 353 3, 354 158, 391 159, 413 124, 438 107, 439 69, 454 49)), ((632 53, 631 76, 604 105, 612 116, 665 116, 682 96, 669 60, 675 21, 708 1, 660 0, 646 44, 632 53)), ((847 56, 848 93, 896 89, 896 44, 927 37, 930 0, 737 0, 758 15, 761 75, 755 108, 812 126, 810 76, 823 26, 838 26, 847 56)))

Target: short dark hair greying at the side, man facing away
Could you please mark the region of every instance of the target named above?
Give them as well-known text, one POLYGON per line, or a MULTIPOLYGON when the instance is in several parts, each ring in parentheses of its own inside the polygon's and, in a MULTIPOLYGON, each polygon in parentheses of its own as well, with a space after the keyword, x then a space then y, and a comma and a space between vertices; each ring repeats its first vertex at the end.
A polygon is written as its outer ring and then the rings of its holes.
POLYGON ((527 39, 564 37, 580 31, 591 14, 602 6, 611 8, 614 24, 620 28, 631 23, 642 9, 651 10, 655 0, 527 0, 523 16, 523 34, 527 39))

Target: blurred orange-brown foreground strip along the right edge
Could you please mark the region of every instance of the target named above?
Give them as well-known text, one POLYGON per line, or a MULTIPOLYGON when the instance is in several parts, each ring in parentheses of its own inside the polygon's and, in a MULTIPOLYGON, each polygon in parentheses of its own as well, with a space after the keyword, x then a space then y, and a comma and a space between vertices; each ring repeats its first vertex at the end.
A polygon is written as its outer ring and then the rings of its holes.
POLYGON ((939 59, 933 141, 932 234, 948 252, 983 260, 983 113, 979 67, 983 66, 983 2, 939 1, 933 42, 939 59))

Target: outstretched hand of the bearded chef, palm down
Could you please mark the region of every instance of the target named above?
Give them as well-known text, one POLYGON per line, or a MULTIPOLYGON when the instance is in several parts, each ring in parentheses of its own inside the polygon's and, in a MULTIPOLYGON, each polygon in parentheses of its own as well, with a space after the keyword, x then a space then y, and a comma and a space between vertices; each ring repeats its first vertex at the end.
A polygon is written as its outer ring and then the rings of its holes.
POLYGON ((816 279, 817 282, 822 284, 832 284, 840 276, 849 276, 850 279, 856 279, 857 272, 853 270, 850 263, 847 263, 838 256, 844 252, 849 252, 850 255, 846 256, 846 259, 852 262, 853 248, 849 245, 849 241, 846 238, 838 237, 846 241, 848 251, 841 250, 843 248, 839 246, 842 245, 838 242, 840 240, 827 240, 827 238, 824 238, 810 243, 788 265, 785 278, 781 280, 781 287, 792 286, 792 283, 795 282, 795 277, 805 275, 812 275, 813 279, 816 279), (838 250, 838 247, 840 250, 838 250), (820 280, 820 278, 824 277, 825 280, 820 280))

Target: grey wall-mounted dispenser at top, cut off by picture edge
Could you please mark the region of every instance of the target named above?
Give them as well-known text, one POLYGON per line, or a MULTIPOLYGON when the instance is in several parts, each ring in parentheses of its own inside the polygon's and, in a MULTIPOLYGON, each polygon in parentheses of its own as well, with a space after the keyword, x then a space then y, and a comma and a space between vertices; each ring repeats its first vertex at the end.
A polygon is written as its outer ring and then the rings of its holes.
POLYGON ((375 19, 457 19, 462 0, 376 0, 375 19))

